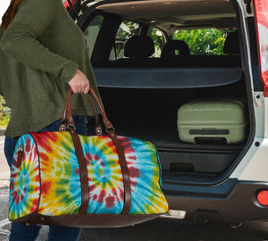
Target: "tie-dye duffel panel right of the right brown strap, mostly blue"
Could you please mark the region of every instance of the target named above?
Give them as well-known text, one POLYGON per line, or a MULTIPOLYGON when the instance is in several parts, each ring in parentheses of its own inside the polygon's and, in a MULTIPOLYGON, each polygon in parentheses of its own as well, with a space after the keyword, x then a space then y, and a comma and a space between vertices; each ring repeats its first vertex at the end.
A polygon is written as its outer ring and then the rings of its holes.
POLYGON ((131 207, 129 213, 168 212, 167 200, 160 186, 161 170, 155 145, 131 137, 118 137, 118 139, 124 148, 130 171, 131 207))

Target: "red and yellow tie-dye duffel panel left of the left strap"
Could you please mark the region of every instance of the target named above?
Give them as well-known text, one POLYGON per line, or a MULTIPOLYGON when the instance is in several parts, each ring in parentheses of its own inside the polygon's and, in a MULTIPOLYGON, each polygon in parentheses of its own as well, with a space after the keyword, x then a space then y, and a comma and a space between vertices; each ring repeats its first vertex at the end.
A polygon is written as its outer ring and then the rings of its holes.
POLYGON ((80 166, 68 131, 33 133, 40 156, 42 192, 38 213, 78 213, 81 205, 80 166))

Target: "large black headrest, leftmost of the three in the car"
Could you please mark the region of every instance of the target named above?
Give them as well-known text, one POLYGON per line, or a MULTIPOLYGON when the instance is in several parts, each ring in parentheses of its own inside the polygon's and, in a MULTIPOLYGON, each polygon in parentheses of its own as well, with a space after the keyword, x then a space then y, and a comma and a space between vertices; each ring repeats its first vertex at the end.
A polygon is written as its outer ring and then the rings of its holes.
POLYGON ((151 37, 133 36, 128 39, 124 55, 129 58, 147 58, 155 53, 155 45, 151 37))

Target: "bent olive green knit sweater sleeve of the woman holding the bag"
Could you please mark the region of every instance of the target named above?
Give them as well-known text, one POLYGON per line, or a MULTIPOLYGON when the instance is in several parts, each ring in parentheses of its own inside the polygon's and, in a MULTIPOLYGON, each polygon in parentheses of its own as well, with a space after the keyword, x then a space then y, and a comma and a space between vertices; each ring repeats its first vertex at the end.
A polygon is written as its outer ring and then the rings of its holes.
POLYGON ((49 72, 68 83, 78 64, 54 54, 38 41, 46 28, 54 28, 59 4, 62 4, 60 0, 24 0, 4 31, 0 47, 16 61, 49 72))

